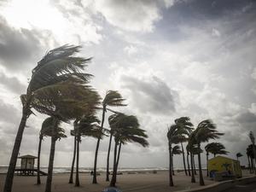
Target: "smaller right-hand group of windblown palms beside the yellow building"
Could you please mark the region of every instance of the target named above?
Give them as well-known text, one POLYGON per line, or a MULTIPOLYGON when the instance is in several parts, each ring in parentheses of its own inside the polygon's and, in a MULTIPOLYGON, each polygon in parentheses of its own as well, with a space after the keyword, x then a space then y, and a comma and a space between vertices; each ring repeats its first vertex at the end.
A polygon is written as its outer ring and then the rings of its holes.
MULTIPOLYGON (((173 183, 173 154, 177 150, 177 144, 180 143, 182 150, 176 154, 183 154, 183 166, 184 172, 186 175, 191 176, 191 182, 195 183, 195 160, 194 155, 198 156, 198 166, 199 166, 199 177, 200 184, 204 185, 204 179, 202 175, 201 168, 201 143, 206 143, 210 139, 218 139, 220 136, 223 136, 224 133, 217 131, 217 127, 213 124, 211 119, 206 119, 201 121, 199 125, 194 129, 194 125, 190 122, 189 117, 181 117, 174 120, 174 124, 168 127, 167 138, 169 146, 169 185, 174 186, 173 183), (185 162, 185 154, 183 150, 183 143, 187 143, 187 166, 185 162), (172 144, 176 144, 172 146, 172 144), (190 166, 189 166, 189 155, 190 155, 190 166)), ((221 143, 208 143, 206 146, 207 159, 209 153, 212 153, 214 156, 216 154, 227 154, 228 152, 224 150, 224 145, 221 143)))

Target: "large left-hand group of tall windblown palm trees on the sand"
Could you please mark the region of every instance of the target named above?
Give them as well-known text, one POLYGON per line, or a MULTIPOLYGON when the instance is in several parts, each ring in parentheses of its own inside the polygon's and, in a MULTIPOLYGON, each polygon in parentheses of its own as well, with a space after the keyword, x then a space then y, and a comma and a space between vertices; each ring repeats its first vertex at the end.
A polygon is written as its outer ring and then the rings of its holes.
MULTIPOLYGON (((44 137, 51 137, 49 152, 48 176, 45 192, 51 191, 52 172, 55 157, 55 143, 62 137, 67 137, 61 123, 73 121, 71 135, 74 137, 74 151, 72 170, 69 183, 73 183, 73 167, 76 160, 76 181, 79 186, 79 143, 82 137, 95 137, 96 154, 94 163, 93 183, 96 181, 96 165, 100 141, 104 135, 109 135, 108 148, 108 172, 109 180, 109 154, 111 141, 114 138, 113 176, 110 185, 116 183, 116 175, 119 164, 121 146, 128 142, 140 143, 143 147, 148 146, 148 137, 140 128, 137 117, 126 115, 111 110, 108 107, 125 106, 125 99, 116 90, 109 90, 101 101, 101 97, 95 89, 90 86, 93 75, 84 73, 84 68, 91 58, 75 56, 80 46, 64 45, 50 50, 38 65, 32 69, 32 78, 28 84, 26 94, 20 96, 22 102, 22 117, 15 138, 15 145, 9 162, 4 192, 11 192, 15 175, 15 166, 20 151, 23 131, 26 120, 33 114, 33 109, 39 113, 49 115, 42 125, 39 134, 38 145, 38 171, 40 169, 40 151, 44 137), (102 107, 100 105, 102 104, 102 107), (97 110, 102 110, 102 121, 96 117, 97 110), (108 119, 110 130, 103 127, 105 113, 113 112, 108 119), (101 123, 101 125, 99 125, 101 123)), ((38 172, 39 173, 39 172, 38 172)), ((38 184, 41 183, 38 174, 38 184)))

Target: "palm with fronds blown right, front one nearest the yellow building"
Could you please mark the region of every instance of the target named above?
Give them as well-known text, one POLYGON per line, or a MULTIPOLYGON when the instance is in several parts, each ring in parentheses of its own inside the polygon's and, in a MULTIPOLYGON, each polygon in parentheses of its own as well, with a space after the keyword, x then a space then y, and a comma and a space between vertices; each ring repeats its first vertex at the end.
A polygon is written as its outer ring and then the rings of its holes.
MULTIPOLYGON (((197 144, 197 148, 201 149, 201 143, 208 142, 210 139, 216 139, 220 136, 224 135, 224 133, 219 133, 216 130, 216 125, 212 123, 212 120, 206 119, 201 121, 195 130, 195 142, 197 144)), ((199 176, 200 176, 200 185, 205 185, 204 178, 202 176, 201 170, 201 153, 198 153, 198 166, 199 166, 199 176)))

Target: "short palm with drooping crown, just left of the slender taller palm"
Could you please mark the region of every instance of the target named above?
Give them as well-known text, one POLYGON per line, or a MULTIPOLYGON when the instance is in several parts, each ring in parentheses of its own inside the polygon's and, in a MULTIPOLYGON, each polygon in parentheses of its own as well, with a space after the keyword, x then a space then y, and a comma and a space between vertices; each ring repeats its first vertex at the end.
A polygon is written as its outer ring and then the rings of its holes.
POLYGON ((79 187, 79 143, 81 137, 102 137, 101 127, 98 126, 101 121, 93 114, 84 115, 82 119, 76 119, 74 122, 74 135, 77 137, 77 166, 75 186, 79 187))

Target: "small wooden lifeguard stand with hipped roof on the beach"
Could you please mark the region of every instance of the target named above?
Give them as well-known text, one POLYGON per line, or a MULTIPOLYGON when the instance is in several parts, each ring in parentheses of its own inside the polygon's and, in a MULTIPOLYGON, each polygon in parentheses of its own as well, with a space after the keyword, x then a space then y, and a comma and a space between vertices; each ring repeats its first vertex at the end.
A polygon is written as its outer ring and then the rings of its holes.
POLYGON ((16 171, 18 171, 18 174, 20 172, 20 175, 34 175, 35 159, 37 158, 38 157, 32 156, 30 154, 20 156, 20 169, 16 169, 16 171))

